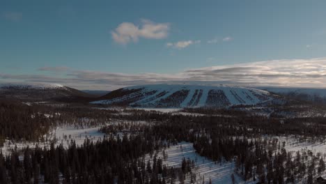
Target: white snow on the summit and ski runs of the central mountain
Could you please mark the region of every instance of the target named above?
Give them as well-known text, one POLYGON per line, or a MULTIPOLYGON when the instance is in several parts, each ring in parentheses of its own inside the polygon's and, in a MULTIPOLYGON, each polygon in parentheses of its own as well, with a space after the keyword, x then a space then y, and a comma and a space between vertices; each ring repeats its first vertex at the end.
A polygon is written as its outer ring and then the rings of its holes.
MULTIPOLYGON (((226 100, 230 103, 230 105, 255 105, 263 100, 258 99, 256 95, 266 97, 266 99, 272 100, 270 98, 270 93, 267 91, 263 91, 261 89, 251 89, 242 86, 227 86, 227 85, 219 85, 219 86, 205 86, 205 85, 176 85, 176 84, 152 84, 152 85, 144 85, 144 86, 130 86, 126 87, 123 90, 134 90, 140 89, 140 91, 130 93, 129 95, 123 95, 118 98, 113 98, 109 100, 99 100, 92 102, 94 104, 111 104, 114 102, 123 102, 124 100, 132 100, 132 98, 141 94, 141 98, 135 100, 134 102, 130 102, 130 105, 138 105, 139 107, 156 107, 157 103, 162 99, 166 99, 171 96, 173 93, 177 91, 186 90, 188 91, 187 96, 180 102, 180 104, 173 105, 173 107, 204 107, 208 100, 208 93, 211 90, 214 91, 222 91, 226 96, 226 100), (152 95, 145 95, 148 92, 155 91, 152 95), (196 99, 199 98, 199 91, 202 91, 198 104, 195 102, 192 105, 188 105, 192 100, 195 91, 198 91, 196 95, 196 99), (155 96, 159 93, 164 92, 165 94, 155 98, 155 96)), ((222 100, 222 99, 221 99, 222 100)), ((196 100, 194 100, 196 101, 196 100)), ((266 101, 266 100, 265 100, 266 101)), ((265 102, 264 101, 264 102, 265 102)), ((267 100, 268 101, 268 100, 267 100)), ((158 105, 160 106, 160 105, 158 105)), ((169 106, 170 108, 173 108, 169 106)))

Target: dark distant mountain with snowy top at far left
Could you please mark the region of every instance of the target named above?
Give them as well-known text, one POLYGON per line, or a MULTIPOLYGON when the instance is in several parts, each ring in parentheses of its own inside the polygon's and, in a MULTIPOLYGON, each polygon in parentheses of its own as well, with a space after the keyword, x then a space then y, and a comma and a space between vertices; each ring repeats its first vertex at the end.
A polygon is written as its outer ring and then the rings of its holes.
POLYGON ((10 100, 63 100, 76 101, 91 95, 61 84, 52 83, 8 83, 0 84, 0 98, 10 100))

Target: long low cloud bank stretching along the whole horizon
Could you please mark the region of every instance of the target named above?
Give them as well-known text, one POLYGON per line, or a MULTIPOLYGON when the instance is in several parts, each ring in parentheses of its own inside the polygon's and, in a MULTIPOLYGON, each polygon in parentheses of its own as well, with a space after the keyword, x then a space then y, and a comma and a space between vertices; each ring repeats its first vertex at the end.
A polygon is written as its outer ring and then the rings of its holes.
MULTIPOLYGON (((61 67, 40 68, 53 72, 61 67)), ((293 86, 326 88, 326 58, 286 59, 194 68, 174 74, 100 72, 63 68, 60 75, 13 75, 0 73, 0 80, 54 82, 77 89, 114 90, 141 84, 235 84, 241 86, 293 86), (60 76, 60 77, 59 77, 60 76)))

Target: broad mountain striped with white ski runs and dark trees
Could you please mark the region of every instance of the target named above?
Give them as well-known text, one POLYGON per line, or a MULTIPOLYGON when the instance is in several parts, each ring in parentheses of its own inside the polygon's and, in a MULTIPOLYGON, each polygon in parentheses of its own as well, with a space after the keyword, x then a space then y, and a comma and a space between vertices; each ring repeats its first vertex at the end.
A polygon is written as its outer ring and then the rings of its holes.
POLYGON ((95 104, 133 107, 229 107, 272 100, 269 92, 240 86, 155 84, 111 91, 95 104))

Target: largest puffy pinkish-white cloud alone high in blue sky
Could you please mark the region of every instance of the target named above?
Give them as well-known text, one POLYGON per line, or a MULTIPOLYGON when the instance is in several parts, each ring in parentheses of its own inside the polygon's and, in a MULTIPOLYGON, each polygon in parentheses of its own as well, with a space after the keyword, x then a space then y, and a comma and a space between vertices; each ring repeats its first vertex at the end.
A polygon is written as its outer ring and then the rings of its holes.
POLYGON ((111 31, 111 36, 116 43, 125 45, 131 41, 137 42, 139 38, 163 39, 168 36, 169 23, 155 23, 150 20, 141 20, 140 25, 123 22, 111 31))

